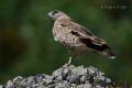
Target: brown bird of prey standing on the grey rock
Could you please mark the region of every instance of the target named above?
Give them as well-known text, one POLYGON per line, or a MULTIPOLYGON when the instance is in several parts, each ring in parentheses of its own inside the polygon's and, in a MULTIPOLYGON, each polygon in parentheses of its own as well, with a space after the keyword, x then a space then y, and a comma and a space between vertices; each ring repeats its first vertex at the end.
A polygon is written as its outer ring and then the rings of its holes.
POLYGON ((70 65, 72 59, 76 56, 88 52, 100 53, 109 58, 114 58, 114 54, 103 40, 74 22, 66 13, 55 10, 51 11, 48 16, 54 21, 54 40, 69 50, 70 56, 66 65, 70 65))

